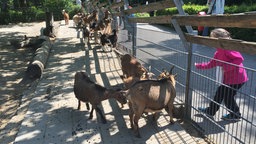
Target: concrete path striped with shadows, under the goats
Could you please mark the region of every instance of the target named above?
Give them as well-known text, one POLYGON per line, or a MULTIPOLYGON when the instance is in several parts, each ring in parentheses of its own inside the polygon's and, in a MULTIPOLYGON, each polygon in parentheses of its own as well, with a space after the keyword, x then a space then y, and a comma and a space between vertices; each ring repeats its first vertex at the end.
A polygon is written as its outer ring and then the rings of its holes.
POLYGON ((102 102, 107 124, 102 124, 95 113, 94 118, 88 120, 89 112, 84 104, 77 110, 74 74, 87 71, 93 80, 106 87, 122 84, 118 57, 114 52, 103 52, 93 43, 91 47, 84 45, 81 33, 65 25, 60 26, 57 37, 16 144, 196 143, 179 123, 169 125, 166 113, 157 123, 152 122, 150 116, 141 118, 142 138, 135 138, 129 125, 128 106, 120 108, 115 100, 102 102))

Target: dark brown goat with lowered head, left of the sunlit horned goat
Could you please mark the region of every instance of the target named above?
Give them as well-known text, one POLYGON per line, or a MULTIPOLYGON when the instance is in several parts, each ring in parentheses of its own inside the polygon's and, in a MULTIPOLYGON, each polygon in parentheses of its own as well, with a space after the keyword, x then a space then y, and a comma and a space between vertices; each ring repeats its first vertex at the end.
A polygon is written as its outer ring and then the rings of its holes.
POLYGON ((101 85, 94 83, 85 72, 76 72, 74 81, 74 94, 78 99, 78 110, 81 107, 81 101, 86 103, 87 109, 89 110, 89 104, 92 105, 89 119, 93 118, 94 109, 100 115, 102 123, 106 123, 106 118, 103 116, 98 105, 101 101, 114 98, 121 104, 126 103, 126 98, 121 94, 120 91, 114 89, 108 89, 101 85))

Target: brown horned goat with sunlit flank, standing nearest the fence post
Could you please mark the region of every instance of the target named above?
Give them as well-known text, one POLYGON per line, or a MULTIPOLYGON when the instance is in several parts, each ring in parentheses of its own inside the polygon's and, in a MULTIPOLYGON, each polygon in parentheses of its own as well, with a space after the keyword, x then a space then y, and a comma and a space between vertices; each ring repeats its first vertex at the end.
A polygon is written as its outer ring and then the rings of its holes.
MULTIPOLYGON (((171 69, 172 71, 172 69, 171 69)), ((173 120, 173 103, 176 97, 175 77, 170 74, 160 80, 144 80, 134 83, 128 90, 123 91, 129 105, 129 117, 131 128, 137 137, 140 136, 138 121, 143 112, 159 112, 163 108, 170 116, 170 123, 173 120)), ((154 118, 156 119, 154 113, 154 118)))

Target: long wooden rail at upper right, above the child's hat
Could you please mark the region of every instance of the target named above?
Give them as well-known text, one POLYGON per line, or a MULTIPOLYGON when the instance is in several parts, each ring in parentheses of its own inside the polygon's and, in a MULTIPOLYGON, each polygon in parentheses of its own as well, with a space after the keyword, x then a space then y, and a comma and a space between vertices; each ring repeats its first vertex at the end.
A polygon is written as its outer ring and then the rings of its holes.
POLYGON ((209 27, 238 27, 238 28, 256 28, 256 14, 232 14, 232 15, 176 15, 172 17, 177 19, 180 25, 191 26, 209 26, 209 27))

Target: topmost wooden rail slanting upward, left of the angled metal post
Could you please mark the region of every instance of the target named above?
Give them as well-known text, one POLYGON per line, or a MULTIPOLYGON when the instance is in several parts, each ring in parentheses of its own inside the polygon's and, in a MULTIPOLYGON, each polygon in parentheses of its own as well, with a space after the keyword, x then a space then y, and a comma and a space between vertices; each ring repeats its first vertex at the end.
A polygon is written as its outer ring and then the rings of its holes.
POLYGON ((148 5, 141 5, 138 7, 134 7, 132 9, 125 10, 125 14, 132 14, 132 13, 143 13, 149 12, 152 10, 161 10, 165 8, 176 7, 172 0, 163 0, 160 2, 149 3, 148 5))

